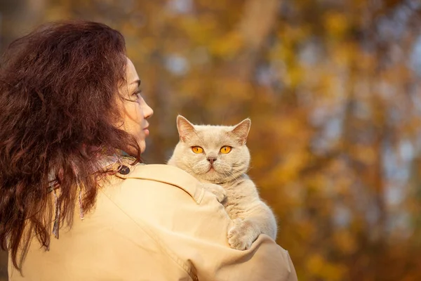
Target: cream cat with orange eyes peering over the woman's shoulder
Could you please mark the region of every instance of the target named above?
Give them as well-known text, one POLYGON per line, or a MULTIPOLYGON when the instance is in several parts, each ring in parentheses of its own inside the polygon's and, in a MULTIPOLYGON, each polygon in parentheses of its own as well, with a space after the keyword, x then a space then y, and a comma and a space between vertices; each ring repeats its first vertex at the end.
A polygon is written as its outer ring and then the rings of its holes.
POLYGON ((250 119, 236 126, 198 126, 177 117, 180 142, 168 164, 192 174, 221 202, 233 226, 228 242, 234 249, 248 249, 264 233, 276 239, 276 220, 246 172, 250 152, 246 138, 250 119))

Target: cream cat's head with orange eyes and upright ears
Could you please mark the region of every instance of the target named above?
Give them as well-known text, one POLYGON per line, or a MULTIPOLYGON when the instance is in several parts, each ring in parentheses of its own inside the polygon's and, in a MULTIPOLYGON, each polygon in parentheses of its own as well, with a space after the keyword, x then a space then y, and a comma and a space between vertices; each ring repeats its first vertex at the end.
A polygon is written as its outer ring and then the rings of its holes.
POLYGON ((250 124, 250 119, 245 119, 235 126, 193 125, 178 115, 180 142, 168 164, 213 183, 237 178, 250 164, 246 146, 250 124))

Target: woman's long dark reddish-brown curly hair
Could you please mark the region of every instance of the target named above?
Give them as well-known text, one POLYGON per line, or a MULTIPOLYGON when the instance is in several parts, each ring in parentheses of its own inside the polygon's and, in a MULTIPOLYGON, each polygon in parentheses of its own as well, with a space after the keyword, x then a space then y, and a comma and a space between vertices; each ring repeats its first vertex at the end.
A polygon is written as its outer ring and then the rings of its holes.
POLYGON ((0 240, 21 270, 34 235, 48 249, 60 187, 60 221, 72 226, 78 198, 89 210, 99 188, 100 155, 131 148, 116 126, 126 75, 121 33, 87 21, 43 25, 6 49, 0 63, 0 240), (51 190, 50 190, 51 191, 51 190))

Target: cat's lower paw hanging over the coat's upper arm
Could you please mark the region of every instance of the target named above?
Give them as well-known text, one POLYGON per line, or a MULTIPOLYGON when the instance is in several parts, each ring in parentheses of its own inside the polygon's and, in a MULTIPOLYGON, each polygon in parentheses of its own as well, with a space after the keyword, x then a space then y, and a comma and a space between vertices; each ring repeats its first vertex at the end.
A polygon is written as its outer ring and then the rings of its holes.
POLYGON ((258 235, 259 233, 250 221, 236 218, 233 226, 228 230, 228 243, 233 249, 246 250, 251 247, 258 235))

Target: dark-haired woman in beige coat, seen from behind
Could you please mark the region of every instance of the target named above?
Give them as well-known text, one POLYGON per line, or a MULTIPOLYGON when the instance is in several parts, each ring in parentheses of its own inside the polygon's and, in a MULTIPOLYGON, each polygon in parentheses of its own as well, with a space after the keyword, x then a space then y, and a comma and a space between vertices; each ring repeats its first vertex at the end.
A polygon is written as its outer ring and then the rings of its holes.
POLYGON ((8 48, 0 239, 9 280, 296 280, 288 252, 266 235, 230 249, 225 209, 192 176, 141 164, 153 111, 139 86, 122 35, 100 23, 45 25, 8 48))

